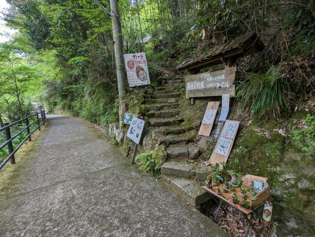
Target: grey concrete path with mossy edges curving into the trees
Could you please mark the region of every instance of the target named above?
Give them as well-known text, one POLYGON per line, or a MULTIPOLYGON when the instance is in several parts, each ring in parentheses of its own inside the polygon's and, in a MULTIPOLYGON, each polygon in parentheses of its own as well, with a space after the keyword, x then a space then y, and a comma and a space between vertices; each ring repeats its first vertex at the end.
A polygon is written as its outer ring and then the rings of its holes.
POLYGON ((0 192, 1 236, 228 236, 88 123, 47 120, 0 192))

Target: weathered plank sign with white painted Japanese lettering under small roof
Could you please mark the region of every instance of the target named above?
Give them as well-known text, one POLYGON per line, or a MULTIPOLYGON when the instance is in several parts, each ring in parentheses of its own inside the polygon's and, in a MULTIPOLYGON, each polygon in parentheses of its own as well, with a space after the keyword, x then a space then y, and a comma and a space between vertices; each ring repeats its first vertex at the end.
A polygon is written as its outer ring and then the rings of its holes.
POLYGON ((229 67, 220 71, 185 76, 186 98, 234 95, 236 71, 236 67, 229 67))

